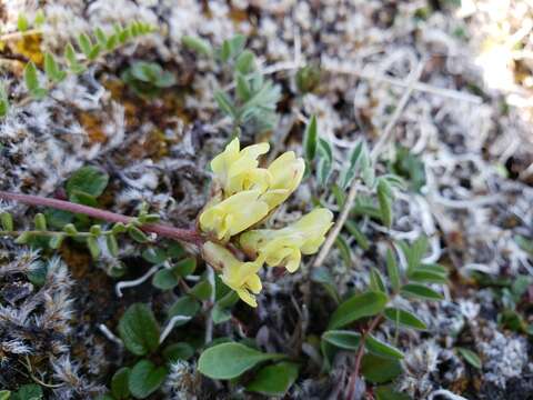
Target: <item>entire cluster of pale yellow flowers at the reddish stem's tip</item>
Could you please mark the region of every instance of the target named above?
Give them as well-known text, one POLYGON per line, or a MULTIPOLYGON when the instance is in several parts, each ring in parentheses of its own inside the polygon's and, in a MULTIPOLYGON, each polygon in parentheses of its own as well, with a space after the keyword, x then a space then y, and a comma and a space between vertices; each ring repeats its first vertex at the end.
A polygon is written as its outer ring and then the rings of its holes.
POLYGON ((318 251, 333 219, 330 210, 315 209, 280 230, 249 230, 291 196, 305 169, 293 151, 281 154, 269 168, 260 168, 258 158, 269 149, 269 143, 260 143, 241 150, 239 139, 233 139, 211 161, 214 196, 199 220, 200 229, 212 238, 203 246, 204 259, 222 271, 222 281, 252 307, 257 307, 253 294, 261 291, 258 272, 263 263, 294 272, 302 254, 318 251), (224 247, 238 234, 234 244, 254 261, 241 261, 224 247))

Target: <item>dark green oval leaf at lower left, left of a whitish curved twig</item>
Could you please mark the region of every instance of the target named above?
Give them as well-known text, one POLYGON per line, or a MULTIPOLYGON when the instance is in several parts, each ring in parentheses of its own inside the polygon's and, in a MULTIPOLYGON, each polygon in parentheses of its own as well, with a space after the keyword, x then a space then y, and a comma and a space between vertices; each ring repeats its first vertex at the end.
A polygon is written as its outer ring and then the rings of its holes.
POLYGON ((159 326, 148 304, 134 303, 119 322, 124 346, 135 356, 144 356, 159 347, 159 326))

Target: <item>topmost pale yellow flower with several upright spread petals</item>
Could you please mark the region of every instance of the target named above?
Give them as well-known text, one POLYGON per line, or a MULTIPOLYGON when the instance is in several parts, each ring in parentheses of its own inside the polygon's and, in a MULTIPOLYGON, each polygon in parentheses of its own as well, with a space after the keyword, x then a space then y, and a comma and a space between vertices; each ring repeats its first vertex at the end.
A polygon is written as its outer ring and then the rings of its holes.
POLYGON ((263 192, 269 187, 269 171, 258 168, 258 157, 269 151, 269 143, 239 149, 239 139, 235 138, 211 161, 211 169, 224 192, 224 198, 249 189, 259 189, 263 192))

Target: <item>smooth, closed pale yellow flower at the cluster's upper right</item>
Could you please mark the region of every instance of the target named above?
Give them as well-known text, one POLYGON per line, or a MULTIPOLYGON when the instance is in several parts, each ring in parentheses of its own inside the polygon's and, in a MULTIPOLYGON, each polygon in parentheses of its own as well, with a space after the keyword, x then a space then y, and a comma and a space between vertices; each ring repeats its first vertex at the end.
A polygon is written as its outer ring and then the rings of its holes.
POLYGON ((296 190, 305 171, 305 162, 302 158, 296 158, 294 151, 286 151, 272 161, 268 171, 271 182, 262 199, 269 203, 272 210, 296 190))

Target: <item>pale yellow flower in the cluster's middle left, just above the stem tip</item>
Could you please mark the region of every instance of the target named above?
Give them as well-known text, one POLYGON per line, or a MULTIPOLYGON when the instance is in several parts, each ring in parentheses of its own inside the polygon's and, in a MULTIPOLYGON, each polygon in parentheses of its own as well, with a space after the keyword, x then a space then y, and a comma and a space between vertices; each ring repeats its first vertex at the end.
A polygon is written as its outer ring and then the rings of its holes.
POLYGON ((259 190, 241 191, 215 202, 200 214, 200 228, 213 232, 219 240, 229 240, 261 221, 269 213, 269 206, 260 199, 259 190))

